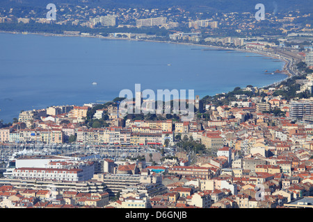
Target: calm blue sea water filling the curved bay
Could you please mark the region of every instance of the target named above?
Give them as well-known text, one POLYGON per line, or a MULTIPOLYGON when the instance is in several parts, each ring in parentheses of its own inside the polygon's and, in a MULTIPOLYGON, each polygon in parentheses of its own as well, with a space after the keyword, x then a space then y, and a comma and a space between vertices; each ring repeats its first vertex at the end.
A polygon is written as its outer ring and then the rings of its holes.
POLYGON ((264 74, 282 69, 282 61, 201 49, 207 48, 0 33, 0 119, 8 123, 21 110, 51 105, 111 101, 122 89, 134 92, 136 83, 156 94, 157 89, 194 89, 202 98, 286 78, 264 74))

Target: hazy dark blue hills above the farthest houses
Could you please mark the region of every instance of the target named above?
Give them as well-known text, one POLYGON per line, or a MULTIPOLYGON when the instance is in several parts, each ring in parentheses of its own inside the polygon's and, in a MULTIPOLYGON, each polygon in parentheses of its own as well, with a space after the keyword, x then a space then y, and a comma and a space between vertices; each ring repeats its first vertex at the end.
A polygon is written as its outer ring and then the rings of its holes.
POLYGON ((266 12, 300 10, 312 12, 312 0, 1 0, 0 7, 33 6, 45 7, 48 3, 86 5, 104 8, 170 8, 202 12, 255 12, 255 5, 263 3, 266 12))

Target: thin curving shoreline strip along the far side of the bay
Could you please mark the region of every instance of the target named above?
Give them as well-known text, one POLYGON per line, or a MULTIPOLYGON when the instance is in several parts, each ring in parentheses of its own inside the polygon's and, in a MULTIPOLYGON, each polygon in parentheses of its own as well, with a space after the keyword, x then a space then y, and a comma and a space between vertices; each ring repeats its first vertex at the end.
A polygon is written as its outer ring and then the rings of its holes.
MULTIPOLYGON (((137 39, 131 39, 131 38, 122 38, 122 37, 104 37, 102 35, 65 35, 65 34, 54 34, 54 33, 29 33, 29 32, 22 32, 21 33, 21 32, 16 32, 16 31, 0 31, 0 33, 22 34, 22 35, 43 35, 43 36, 55 36, 55 37, 90 37, 90 38, 99 38, 102 40, 130 40, 130 41, 138 41, 138 42, 157 42, 157 43, 169 43, 169 44, 182 44, 182 45, 188 45, 188 46, 202 46, 202 47, 206 47, 206 48, 210 48, 210 49, 240 51, 243 53, 256 53, 258 55, 266 56, 267 58, 270 58, 270 59, 280 60, 280 61, 284 62, 284 67, 282 68, 282 70, 279 73, 276 73, 276 74, 284 74, 287 76, 286 78, 284 78, 278 82, 271 83, 269 85, 265 85, 265 86, 260 87, 260 88, 278 85, 278 84, 282 83, 284 80, 287 80, 288 78, 291 78, 292 76, 294 76, 293 74, 291 74, 291 71, 289 70, 288 58, 281 56, 281 55, 278 55, 278 54, 266 53, 263 51, 253 51, 253 50, 248 50, 248 49, 232 49, 232 48, 228 48, 225 46, 211 46, 211 45, 207 45, 207 44, 197 44, 197 43, 192 43, 192 42, 170 42, 170 41, 162 41, 162 40, 137 40, 137 39)), ((223 92, 221 92, 221 93, 223 93, 223 92)))

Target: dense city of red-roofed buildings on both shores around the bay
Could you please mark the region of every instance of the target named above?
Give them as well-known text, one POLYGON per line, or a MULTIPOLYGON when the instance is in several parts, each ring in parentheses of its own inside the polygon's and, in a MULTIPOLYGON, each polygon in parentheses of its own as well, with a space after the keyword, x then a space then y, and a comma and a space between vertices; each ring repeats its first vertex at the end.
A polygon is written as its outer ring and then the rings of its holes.
POLYGON ((175 112, 175 99, 170 107, 163 101, 168 113, 143 112, 156 105, 143 92, 127 98, 139 113, 122 113, 125 98, 118 94, 103 103, 29 104, 12 121, 0 121, 1 208, 312 208, 310 12, 274 10, 262 23, 254 6, 251 12, 56 8, 53 20, 48 10, 1 6, 0 31, 255 53, 284 61, 282 69, 262 71, 285 78, 195 94, 188 121, 186 112, 175 112))

